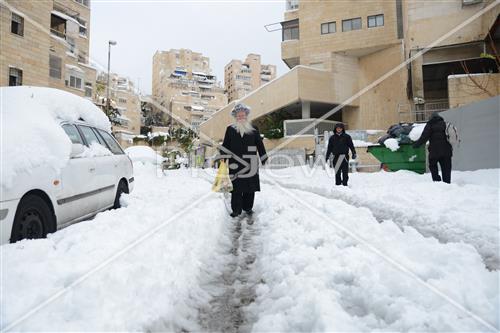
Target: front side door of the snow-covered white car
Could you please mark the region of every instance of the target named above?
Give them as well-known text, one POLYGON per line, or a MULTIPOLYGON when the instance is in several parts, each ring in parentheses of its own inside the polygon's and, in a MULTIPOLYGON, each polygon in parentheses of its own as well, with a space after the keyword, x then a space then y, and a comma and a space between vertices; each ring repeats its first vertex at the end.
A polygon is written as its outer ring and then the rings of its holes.
MULTIPOLYGON (((63 124, 62 128, 72 144, 85 144, 75 125, 63 124)), ((83 154, 71 156, 68 164, 61 170, 61 190, 56 195, 58 227, 95 211, 92 193, 97 190, 98 184, 95 182, 94 171, 94 160, 83 154)))

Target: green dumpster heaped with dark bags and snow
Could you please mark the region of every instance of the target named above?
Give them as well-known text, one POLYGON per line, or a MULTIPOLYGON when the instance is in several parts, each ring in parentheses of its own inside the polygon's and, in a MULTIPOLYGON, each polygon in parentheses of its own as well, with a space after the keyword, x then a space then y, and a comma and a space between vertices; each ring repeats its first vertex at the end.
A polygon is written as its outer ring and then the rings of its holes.
POLYGON ((382 163, 384 170, 410 170, 420 174, 425 173, 425 145, 415 149, 411 144, 400 144, 396 151, 384 145, 375 145, 369 146, 368 152, 382 163))

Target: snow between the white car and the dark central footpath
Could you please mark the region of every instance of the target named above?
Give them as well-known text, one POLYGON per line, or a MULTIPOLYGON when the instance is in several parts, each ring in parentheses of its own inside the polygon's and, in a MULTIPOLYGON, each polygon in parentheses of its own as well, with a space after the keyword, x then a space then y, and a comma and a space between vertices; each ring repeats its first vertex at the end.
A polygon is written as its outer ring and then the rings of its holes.
POLYGON ((122 199, 124 208, 48 239, 0 247, 2 265, 9 267, 2 273, 2 328, 166 223, 11 330, 137 332, 155 323, 159 331, 200 331, 197 309, 210 299, 200 280, 223 269, 225 254, 219 251, 230 245, 227 213, 208 182, 187 171, 163 177, 156 171, 148 164, 134 165, 136 185, 122 199))

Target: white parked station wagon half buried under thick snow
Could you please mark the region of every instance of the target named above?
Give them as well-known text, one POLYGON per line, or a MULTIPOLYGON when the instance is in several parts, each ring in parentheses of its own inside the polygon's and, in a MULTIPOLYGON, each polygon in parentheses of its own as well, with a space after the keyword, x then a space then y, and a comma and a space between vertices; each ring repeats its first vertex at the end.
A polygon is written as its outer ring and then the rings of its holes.
POLYGON ((133 189, 132 161, 108 131, 84 121, 61 121, 60 126, 72 142, 67 164, 59 171, 50 165, 36 166, 2 189, 2 244, 43 238, 103 210, 119 208, 120 196, 133 189))

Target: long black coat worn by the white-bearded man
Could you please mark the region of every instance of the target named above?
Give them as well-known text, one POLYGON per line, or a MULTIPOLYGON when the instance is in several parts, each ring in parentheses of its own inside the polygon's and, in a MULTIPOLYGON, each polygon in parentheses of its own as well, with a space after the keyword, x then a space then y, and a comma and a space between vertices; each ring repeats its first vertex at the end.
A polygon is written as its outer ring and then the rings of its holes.
POLYGON ((260 191, 259 160, 266 163, 267 155, 264 143, 257 128, 243 137, 233 127, 226 128, 222 155, 230 155, 229 174, 234 192, 260 191), (258 153, 258 156, 257 156, 258 153), (237 157, 237 158, 236 158, 237 157))

